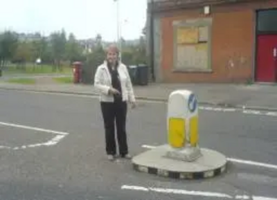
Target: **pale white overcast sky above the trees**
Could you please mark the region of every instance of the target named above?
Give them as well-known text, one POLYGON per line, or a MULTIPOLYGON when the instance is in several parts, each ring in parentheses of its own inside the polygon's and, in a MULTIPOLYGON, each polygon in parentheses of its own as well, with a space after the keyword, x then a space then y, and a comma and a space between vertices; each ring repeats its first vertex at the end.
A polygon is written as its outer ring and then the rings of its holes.
MULTIPOLYGON (((136 39, 145 26, 147 0, 119 0, 120 29, 124 39, 136 39)), ((78 39, 98 33, 108 41, 117 38, 114 0, 0 0, 0 31, 39 32, 66 30, 78 39)))

